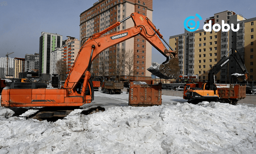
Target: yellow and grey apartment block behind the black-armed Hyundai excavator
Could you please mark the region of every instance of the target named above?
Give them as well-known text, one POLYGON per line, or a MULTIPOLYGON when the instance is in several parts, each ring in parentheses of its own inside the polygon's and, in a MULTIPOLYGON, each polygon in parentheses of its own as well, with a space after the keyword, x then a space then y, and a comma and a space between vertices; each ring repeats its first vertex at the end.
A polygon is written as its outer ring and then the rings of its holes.
MULTIPOLYGON (((169 43, 175 51, 178 51, 180 75, 197 75, 198 79, 196 80, 206 81, 210 68, 231 48, 234 48, 237 49, 243 60, 246 59, 246 61, 244 60, 245 66, 250 73, 248 81, 256 80, 256 66, 253 65, 253 59, 256 56, 254 55, 256 18, 246 19, 235 12, 224 11, 207 18, 204 23, 209 23, 210 20, 212 20, 212 26, 215 23, 222 25, 222 20, 229 25, 233 23, 234 29, 237 29, 237 23, 240 23, 239 30, 234 32, 230 28, 226 32, 222 30, 206 32, 201 29, 189 32, 185 29, 183 34, 171 36, 169 43)), ((235 60, 231 60, 216 75, 216 79, 220 83, 232 82, 231 74, 236 72, 242 73, 235 60)))

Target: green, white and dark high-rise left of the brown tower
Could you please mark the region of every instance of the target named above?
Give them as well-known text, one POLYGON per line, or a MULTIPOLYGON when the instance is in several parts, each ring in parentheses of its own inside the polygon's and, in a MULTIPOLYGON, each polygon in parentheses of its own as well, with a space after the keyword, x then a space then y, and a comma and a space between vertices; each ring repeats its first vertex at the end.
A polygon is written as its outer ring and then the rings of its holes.
POLYGON ((50 74, 50 55, 55 47, 62 46, 62 35, 42 32, 39 40, 39 71, 50 74))

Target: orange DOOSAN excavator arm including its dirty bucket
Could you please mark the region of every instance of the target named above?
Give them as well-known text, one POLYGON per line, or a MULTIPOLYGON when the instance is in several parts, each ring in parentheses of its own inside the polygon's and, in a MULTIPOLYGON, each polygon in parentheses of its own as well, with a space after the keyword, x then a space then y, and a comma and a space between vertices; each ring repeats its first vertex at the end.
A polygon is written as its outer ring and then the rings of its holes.
POLYGON ((163 38, 163 36, 146 16, 138 13, 133 13, 131 14, 131 16, 115 23, 107 29, 104 29, 100 33, 92 35, 86 41, 86 43, 80 49, 78 56, 76 57, 75 63, 70 70, 70 74, 68 75, 68 78, 64 84, 64 88, 68 89, 69 95, 80 95, 76 93, 75 88, 78 84, 78 81, 80 81, 82 76, 85 74, 81 92, 81 96, 84 96, 84 92, 88 85, 88 79, 90 78, 91 62, 92 60, 94 60, 95 57, 97 57, 102 51, 109 48, 110 46, 121 43, 127 39, 135 37, 138 34, 144 37, 167 59, 164 64, 168 64, 161 67, 161 71, 164 73, 161 73, 158 68, 152 68, 152 72, 154 72, 154 74, 158 76, 165 76, 165 78, 177 78, 180 72, 180 68, 178 67, 177 52, 168 51, 168 49, 166 49, 166 47, 160 40, 160 38, 163 38), (117 27, 123 21, 129 18, 132 18, 132 20, 134 21, 134 27, 125 29, 123 31, 118 31, 116 33, 111 33, 109 35, 104 35, 106 32, 110 31, 114 27, 117 27))

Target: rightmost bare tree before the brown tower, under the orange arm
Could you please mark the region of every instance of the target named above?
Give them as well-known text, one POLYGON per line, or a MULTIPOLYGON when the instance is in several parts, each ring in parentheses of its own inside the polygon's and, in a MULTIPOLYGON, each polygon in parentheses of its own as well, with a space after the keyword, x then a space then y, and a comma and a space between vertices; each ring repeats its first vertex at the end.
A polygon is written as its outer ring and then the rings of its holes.
POLYGON ((126 75, 129 76, 128 80, 130 80, 130 76, 134 74, 135 68, 134 68, 134 53, 133 49, 128 50, 125 52, 125 68, 126 68, 126 75))

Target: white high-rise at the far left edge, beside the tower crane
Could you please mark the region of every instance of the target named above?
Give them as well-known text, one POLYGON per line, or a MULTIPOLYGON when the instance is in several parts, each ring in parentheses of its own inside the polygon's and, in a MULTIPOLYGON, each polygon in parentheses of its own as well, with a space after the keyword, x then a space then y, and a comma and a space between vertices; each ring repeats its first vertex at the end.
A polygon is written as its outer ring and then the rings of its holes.
POLYGON ((1 57, 0 78, 5 78, 6 76, 14 76, 14 58, 8 58, 8 68, 7 68, 7 58, 1 57), (7 69, 8 71, 6 72, 7 69))

